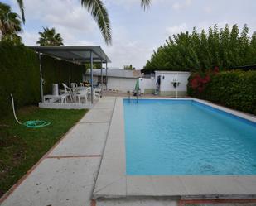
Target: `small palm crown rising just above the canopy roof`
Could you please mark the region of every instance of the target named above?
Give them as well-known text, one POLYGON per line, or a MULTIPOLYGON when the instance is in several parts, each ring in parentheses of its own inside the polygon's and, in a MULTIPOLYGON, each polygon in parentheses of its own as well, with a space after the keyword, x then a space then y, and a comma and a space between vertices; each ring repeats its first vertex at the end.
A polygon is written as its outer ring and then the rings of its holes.
POLYGON ((40 46, 60 46, 63 45, 63 39, 60 33, 56 33, 55 28, 49 29, 48 27, 43 28, 43 32, 38 32, 40 38, 36 41, 36 44, 40 46))

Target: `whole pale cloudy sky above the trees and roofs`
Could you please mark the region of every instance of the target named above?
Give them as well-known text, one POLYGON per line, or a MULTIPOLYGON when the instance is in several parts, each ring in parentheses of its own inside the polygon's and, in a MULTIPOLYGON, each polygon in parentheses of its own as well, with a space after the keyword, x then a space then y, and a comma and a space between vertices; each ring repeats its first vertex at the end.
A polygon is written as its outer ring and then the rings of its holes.
MULTIPOLYGON (((113 44, 107 46, 99 27, 80 0, 23 0, 26 24, 21 34, 25 45, 36 45, 42 27, 55 27, 64 44, 101 46, 112 63, 109 67, 123 69, 133 65, 142 69, 152 51, 164 44, 168 36, 181 31, 207 30, 237 24, 256 31, 255 0, 152 0, 144 11, 140 0, 104 0, 112 28, 113 44)), ((17 0, 1 0, 19 13, 17 0)))

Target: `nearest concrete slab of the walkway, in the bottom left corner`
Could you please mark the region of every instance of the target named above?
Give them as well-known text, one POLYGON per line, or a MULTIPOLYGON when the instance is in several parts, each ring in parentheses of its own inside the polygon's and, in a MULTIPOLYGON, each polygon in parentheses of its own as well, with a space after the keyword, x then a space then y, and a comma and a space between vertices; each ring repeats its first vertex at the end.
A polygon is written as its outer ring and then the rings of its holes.
POLYGON ((99 160, 45 159, 1 206, 90 205, 99 160))

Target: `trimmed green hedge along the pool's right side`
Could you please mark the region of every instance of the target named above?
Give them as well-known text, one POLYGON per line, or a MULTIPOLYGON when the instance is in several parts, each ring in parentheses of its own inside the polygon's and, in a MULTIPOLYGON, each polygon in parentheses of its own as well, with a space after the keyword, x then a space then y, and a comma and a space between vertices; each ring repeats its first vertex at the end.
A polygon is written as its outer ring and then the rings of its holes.
POLYGON ((211 75, 202 92, 191 87, 191 79, 193 74, 188 84, 190 96, 256 114, 256 71, 232 70, 211 75))

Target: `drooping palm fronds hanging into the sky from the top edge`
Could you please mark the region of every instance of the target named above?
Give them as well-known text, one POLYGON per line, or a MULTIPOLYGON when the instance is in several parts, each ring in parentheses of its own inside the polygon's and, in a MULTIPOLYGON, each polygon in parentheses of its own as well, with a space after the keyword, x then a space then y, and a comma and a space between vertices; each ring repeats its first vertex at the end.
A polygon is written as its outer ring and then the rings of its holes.
MULTIPOLYGON (((101 31, 101 34, 104 37, 104 41, 106 42, 106 44, 110 45, 112 41, 111 27, 109 21, 109 14, 106 7, 104 6, 104 2, 102 0, 80 1, 82 7, 85 7, 94 17, 94 20, 97 22, 99 30, 101 31)), ((25 22, 23 0, 17 0, 17 2, 22 12, 22 21, 25 22)), ((151 0, 141 0, 141 6, 144 8, 144 10, 149 7, 150 2, 151 0)))

